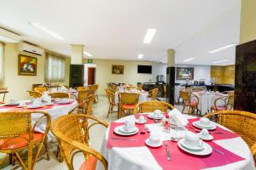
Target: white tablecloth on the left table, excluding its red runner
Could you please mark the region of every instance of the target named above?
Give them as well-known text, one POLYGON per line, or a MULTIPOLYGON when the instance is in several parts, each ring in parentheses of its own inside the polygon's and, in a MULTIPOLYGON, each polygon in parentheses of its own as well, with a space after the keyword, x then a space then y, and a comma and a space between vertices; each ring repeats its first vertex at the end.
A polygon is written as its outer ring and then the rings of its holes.
MULTIPOLYGON (((26 101, 22 101, 22 102, 28 102, 28 100, 26 101)), ((62 116, 62 115, 67 115, 69 111, 72 111, 73 108, 75 108, 76 106, 78 105, 78 102, 76 100, 73 101, 73 103, 69 104, 69 105, 56 105, 52 108, 50 108, 49 110, 40 110, 38 109, 39 111, 45 111, 49 114, 49 116, 51 117, 51 122, 54 122, 55 119, 58 117, 58 116, 62 116)), ((12 110, 13 108, 10 108, 10 109, 0 109, 0 114, 1 112, 3 111, 10 111, 12 110)), ((38 117, 40 115, 34 115, 32 116, 32 124, 34 122, 37 122, 38 121, 38 117)), ((35 128, 35 131, 37 132, 41 132, 41 133, 44 133, 44 129, 45 129, 45 123, 42 121, 40 123, 38 123, 38 126, 35 128)), ((49 131, 49 134, 48 134, 48 139, 52 139, 53 138, 53 134, 49 131)))

